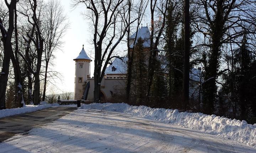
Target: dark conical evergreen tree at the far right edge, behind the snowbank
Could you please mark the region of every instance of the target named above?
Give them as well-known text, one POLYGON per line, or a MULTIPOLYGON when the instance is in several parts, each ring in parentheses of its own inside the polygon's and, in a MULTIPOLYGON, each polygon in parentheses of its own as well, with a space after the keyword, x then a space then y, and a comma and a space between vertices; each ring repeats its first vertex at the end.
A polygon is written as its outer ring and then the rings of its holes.
POLYGON ((223 96, 226 101, 223 101, 223 97, 219 99, 219 103, 226 109, 229 103, 232 105, 233 116, 231 117, 238 117, 241 120, 256 116, 256 60, 246 41, 246 35, 244 35, 241 47, 233 50, 233 56, 228 57, 230 63, 233 62, 233 67, 229 73, 223 74, 225 82, 222 89, 228 97, 223 96))

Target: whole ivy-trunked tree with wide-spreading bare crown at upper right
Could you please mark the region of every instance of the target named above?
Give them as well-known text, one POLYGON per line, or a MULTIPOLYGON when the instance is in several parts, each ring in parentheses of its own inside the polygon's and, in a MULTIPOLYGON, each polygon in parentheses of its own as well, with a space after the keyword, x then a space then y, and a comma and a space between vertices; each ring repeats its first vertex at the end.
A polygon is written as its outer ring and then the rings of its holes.
POLYGON ((216 81, 221 74, 218 72, 221 47, 225 43, 238 43, 244 34, 243 29, 255 39, 255 1, 198 0, 196 5, 201 6, 203 12, 193 24, 197 29, 195 33, 202 34, 206 42, 200 45, 209 49, 203 55, 204 77, 205 80, 213 78, 202 85, 203 111, 211 114, 217 94, 216 81))

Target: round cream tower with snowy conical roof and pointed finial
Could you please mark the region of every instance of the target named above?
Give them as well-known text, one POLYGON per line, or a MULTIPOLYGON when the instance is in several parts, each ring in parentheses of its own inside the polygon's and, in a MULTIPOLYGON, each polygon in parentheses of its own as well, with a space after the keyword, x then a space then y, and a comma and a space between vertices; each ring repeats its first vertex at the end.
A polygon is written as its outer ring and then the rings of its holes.
POLYGON ((81 100, 87 83, 87 74, 90 74, 90 62, 92 61, 84 50, 84 45, 75 61, 75 92, 74 100, 81 100))

